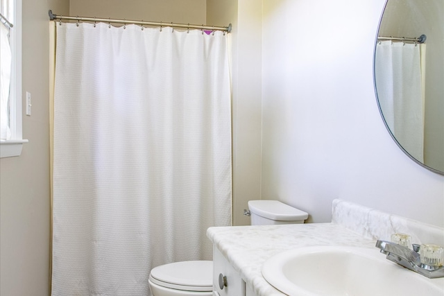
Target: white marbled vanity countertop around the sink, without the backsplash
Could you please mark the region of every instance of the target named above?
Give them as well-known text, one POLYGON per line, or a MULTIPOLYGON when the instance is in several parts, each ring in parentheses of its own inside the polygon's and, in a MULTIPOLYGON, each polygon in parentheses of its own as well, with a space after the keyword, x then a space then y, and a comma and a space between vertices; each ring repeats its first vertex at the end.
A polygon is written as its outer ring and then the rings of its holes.
POLYGON ((259 296, 284 295, 261 272, 262 264, 280 252, 314 245, 371 247, 379 252, 375 240, 333 223, 210 227, 207 236, 259 296))

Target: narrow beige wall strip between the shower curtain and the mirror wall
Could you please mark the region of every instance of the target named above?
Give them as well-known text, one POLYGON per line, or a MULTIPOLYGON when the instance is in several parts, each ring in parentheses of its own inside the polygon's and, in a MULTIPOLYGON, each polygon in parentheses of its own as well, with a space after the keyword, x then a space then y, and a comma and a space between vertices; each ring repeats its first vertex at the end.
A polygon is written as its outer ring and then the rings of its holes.
POLYGON ((232 24, 233 225, 261 199, 262 1, 207 1, 208 24, 232 24))

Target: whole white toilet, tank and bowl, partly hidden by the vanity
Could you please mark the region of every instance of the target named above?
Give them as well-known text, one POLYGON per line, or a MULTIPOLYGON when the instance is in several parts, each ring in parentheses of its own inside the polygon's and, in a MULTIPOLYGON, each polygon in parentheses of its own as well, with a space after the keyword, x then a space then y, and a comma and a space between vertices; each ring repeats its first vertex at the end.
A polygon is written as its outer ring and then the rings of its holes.
MULTIPOLYGON (((278 200, 250 200, 251 225, 300 224, 305 211, 278 200)), ((212 296, 213 262, 181 261, 151 270, 148 283, 153 296, 212 296)))

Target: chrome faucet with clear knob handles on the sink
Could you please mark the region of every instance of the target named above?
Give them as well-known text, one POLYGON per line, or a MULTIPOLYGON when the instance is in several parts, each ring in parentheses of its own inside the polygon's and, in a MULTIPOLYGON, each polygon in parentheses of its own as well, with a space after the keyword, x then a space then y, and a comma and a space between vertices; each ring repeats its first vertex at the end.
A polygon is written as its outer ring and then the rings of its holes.
POLYGON ((404 268, 409 268, 414 272, 418 272, 420 275, 434 279, 437 277, 444 277, 444 266, 432 266, 421 263, 419 245, 413 245, 413 250, 408 247, 398 245, 397 243, 392 243, 390 241, 380 241, 376 242, 376 247, 379 247, 382 254, 386 254, 386 259, 398 263, 404 266, 404 268))

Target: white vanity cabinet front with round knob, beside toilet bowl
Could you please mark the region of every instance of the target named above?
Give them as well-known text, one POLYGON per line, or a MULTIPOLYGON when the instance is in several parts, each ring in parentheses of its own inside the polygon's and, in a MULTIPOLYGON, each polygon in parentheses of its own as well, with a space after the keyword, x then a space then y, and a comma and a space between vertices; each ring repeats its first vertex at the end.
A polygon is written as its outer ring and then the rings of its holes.
POLYGON ((244 296, 245 282, 216 247, 213 247, 213 264, 213 295, 244 296))

